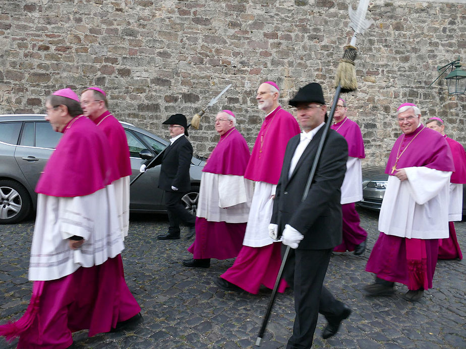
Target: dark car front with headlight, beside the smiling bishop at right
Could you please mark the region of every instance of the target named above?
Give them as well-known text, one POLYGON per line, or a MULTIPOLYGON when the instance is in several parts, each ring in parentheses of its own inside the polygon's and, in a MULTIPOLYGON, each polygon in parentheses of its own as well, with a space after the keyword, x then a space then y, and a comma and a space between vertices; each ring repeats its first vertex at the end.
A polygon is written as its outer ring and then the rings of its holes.
MULTIPOLYGON (((388 175, 385 166, 372 166, 363 169, 363 199, 358 206, 380 211, 383 195, 387 187, 388 175)), ((463 212, 466 216, 466 185, 463 184, 463 212)))

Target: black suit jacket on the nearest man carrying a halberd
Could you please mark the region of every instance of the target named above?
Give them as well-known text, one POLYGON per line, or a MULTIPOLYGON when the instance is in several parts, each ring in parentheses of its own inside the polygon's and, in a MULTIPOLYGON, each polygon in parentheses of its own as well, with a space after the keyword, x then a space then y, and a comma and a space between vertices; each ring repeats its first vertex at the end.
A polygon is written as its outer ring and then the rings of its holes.
POLYGON ((279 232, 289 224, 303 234, 298 249, 329 249, 341 243, 340 187, 346 171, 348 145, 334 130, 328 132, 309 194, 301 201, 324 128, 325 125, 312 138, 288 179, 300 135, 289 140, 275 193, 271 223, 278 224, 279 232))

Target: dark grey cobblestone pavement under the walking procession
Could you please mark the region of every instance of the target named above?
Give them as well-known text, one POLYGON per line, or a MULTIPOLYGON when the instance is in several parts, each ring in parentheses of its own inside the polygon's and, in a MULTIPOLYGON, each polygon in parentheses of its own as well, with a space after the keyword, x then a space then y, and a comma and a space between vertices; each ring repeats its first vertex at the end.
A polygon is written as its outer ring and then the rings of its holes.
MULTIPOLYGON (((334 337, 321 337, 325 319, 319 316, 315 348, 466 348, 465 260, 440 260, 432 290, 418 303, 404 301, 404 285, 391 297, 371 298, 361 291, 373 281, 364 271, 378 236, 377 214, 359 210, 368 231, 368 250, 334 254, 325 284, 353 313, 334 337)), ((253 348, 270 290, 259 295, 224 292, 213 278, 233 260, 212 260, 211 267, 187 268, 181 259, 191 255, 193 240, 158 241, 167 229, 165 216, 132 216, 123 253, 126 280, 142 307, 144 323, 120 333, 87 337, 74 334, 75 348, 253 348)), ((27 280, 33 221, 0 226, 0 323, 19 318, 29 303, 27 280)), ((466 222, 456 224, 466 252, 466 222)), ((184 232, 186 234, 186 231, 184 232)), ((293 296, 278 295, 261 347, 284 348, 292 332, 293 296)), ((0 338, 0 348, 15 347, 0 338)))

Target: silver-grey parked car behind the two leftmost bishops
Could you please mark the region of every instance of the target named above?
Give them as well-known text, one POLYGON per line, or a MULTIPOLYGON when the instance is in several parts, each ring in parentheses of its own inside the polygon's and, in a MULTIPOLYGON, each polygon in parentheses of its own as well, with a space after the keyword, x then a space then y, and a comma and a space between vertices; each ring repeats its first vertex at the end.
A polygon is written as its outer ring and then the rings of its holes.
MULTIPOLYGON (((34 188, 45 163, 59 142, 62 133, 52 130, 45 115, 0 115, 0 224, 18 223, 35 211, 37 194, 34 188)), ((142 150, 153 156, 160 153, 169 141, 142 128, 122 122, 130 148, 131 179, 139 174, 144 162, 142 150)), ((91 151, 91 150, 90 150, 91 151)), ((203 158, 191 161, 191 192, 183 201, 191 212, 196 212, 203 158)), ((149 169, 130 190, 132 213, 163 213, 163 190, 157 188, 160 165, 149 169)))

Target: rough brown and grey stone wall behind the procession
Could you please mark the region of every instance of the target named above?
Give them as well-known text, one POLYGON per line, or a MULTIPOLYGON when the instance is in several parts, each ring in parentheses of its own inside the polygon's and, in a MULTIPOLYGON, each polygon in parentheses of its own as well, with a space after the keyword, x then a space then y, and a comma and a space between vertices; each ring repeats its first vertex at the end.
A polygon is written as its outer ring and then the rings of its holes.
MULTIPOLYGON (((348 4, 0 0, 0 113, 41 113, 56 89, 99 86, 121 120, 166 135, 167 116, 190 119, 232 83, 190 138, 198 154, 208 155, 218 139, 215 113, 231 109, 252 147, 263 118, 255 102, 261 82, 278 83, 284 106, 312 81, 330 102, 338 60, 353 35, 348 4)), ((449 96, 443 79, 428 87, 437 65, 466 58, 464 2, 375 0, 367 18, 374 25, 357 41, 359 89, 343 96, 362 128, 365 164, 386 161, 402 102, 444 118, 448 134, 466 143, 465 96, 449 96)))

